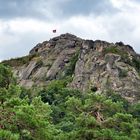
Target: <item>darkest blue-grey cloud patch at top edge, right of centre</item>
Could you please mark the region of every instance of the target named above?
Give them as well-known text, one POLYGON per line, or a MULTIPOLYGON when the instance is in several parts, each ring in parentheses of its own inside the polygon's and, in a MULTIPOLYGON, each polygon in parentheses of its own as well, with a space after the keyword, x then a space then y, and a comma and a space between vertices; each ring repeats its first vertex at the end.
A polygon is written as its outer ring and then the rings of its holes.
POLYGON ((89 15, 90 13, 100 15, 118 11, 112 7, 109 0, 69 0, 66 3, 63 3, 60 7, 65 16, 76 14, 89 15))

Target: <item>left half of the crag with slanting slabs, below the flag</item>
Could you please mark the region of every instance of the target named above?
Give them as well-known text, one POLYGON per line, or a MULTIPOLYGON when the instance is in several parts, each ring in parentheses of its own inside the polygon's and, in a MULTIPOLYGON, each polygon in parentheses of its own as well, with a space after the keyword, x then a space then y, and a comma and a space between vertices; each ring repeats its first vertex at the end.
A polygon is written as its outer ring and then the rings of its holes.
POLYGON ((19 83, 31 87, 64 77, 70 59, 80 49, 82 42, 82 39, 67 33, 39 43, 29 54, 37 53, 37 57, 33 58, 28 65, 15 68, 14 73, 19 83))

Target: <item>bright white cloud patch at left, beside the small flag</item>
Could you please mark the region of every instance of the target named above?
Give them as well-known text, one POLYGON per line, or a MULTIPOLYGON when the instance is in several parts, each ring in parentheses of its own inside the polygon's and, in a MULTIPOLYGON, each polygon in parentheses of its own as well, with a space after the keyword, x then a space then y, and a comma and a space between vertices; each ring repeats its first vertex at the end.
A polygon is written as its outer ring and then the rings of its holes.
MULTIPOLYGON (((27 32, 48 32, 54 26, 52 23, 43 22, 35 19, 17 18, 9 21, 1 21, 2 29, 11 33, 27 33, 27 32), (43 29, 43 30, 42 30, 43 29)), ((1 29, 1 30, 2 30, 1 29)))

